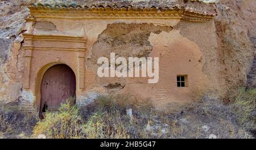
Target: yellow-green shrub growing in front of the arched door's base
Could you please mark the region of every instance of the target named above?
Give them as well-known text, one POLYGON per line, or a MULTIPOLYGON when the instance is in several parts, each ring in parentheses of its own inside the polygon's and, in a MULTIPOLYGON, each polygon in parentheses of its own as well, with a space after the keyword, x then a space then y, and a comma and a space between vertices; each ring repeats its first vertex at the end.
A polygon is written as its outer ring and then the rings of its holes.
POLYGON ((57 112, 46 113, 45 118, 35 126, 34 135, 45 134, 53 139, 84 138, 83 125, 79 109, 67 101, 57 112))

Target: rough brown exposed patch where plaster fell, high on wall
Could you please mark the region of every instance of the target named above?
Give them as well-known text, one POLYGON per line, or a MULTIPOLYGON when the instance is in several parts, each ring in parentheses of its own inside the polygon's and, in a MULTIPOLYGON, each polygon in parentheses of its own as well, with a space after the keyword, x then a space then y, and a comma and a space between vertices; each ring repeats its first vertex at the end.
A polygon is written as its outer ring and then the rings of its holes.
POLYGON ((148 41, 150 33, 159 34, 162 31, 170 32, 172 27, 154 24, 109 24, 104 32, 98 36, 98 41, 93 45, 92 62, 104 56, 110 58, 110 53, 121 57, 148 57, 152 45, 148 41))

